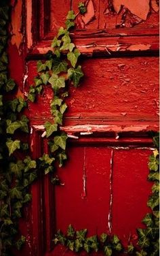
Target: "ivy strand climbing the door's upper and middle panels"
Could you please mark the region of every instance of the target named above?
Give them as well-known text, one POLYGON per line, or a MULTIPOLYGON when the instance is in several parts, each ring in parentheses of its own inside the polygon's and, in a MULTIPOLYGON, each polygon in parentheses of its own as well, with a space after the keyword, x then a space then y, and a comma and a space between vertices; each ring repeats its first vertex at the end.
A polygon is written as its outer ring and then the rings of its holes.
MULTIPOLYGON (((81 6, 84 7, 84 6, 81 6)), ((63 114, 67 109, 64 99, 68 97, 68 85, 79 86, 79 81, 83 77, 81 66, 77 65, 80 56, 79 50, 71 42, 69 30, 75 26, 75 13, 69 11, 66 16, 66 28, 60 27, 58 35, 52 41, 53 51, 46 54, 46 61, 37 62, 37 76, 35 84, 28 91, 28 100, 35 102, 37 95, 41 94, 44 86, 50 86, 53 89, 54 98, 50 102, 53 122, 44 123, 46 137, 49 138, 49 155, 44 155, 39 159, 40 167, 44 169, 45 174, 54 171, 54 162, 58 160, 62 167, 64 160, 67 159, 65 149, 67 135, 60 131, 63 114)), ((57 182, 55 176, 52 182, 57 182)))

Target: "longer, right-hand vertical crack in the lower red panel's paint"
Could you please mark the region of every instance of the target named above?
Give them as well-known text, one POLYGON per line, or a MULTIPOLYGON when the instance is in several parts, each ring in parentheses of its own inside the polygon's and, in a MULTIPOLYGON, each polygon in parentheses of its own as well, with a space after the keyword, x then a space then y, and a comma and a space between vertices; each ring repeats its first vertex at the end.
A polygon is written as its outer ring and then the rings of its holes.
POLYGON ((113 206, 113 149, 111 150, 111 168, 110 168, 110 204, 109 204, 109 212, 108 212, 108 229, 109 229, 109 234, 111 234, 111 229, 112 229, 112 206, 113 206))

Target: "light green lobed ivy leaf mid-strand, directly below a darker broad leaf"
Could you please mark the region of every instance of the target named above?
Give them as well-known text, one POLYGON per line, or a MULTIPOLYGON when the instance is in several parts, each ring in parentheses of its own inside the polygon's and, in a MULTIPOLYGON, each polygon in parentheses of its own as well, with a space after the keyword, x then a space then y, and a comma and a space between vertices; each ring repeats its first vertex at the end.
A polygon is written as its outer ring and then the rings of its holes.
POLYGON ((58 93, 60 88, 65 87, 65 78, 63 76, 58 77, 56 74, 52 74, 48 82, 52 85, 55 94, 58 93))

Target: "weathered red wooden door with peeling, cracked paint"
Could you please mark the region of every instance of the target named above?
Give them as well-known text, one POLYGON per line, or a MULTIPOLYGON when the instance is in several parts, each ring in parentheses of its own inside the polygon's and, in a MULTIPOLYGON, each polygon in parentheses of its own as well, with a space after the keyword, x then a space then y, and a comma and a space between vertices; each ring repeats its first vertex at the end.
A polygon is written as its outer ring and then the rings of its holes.
MULTIPOLYGON (((14 6, 15 37, 9 54, 18 93, 26 95, 37 60, 43 60, 68 10, 78 13, 78 3, 28 0, 14 6), (16 22, 22 22, 24 31, 16 22)), ((87 228, 89 236, 117 234, 126 245, 136 240, 136 228, 144 227, 141 221, 149 211, 148 156, 153 144, 148 131, 158 129, 158 1, 85 4, 87 13, 77 15, 72 32, 85 77, 78 89, 70 89, 62 127, 75 138, 69 139, 66 165, 57 171, 63 184, 54 187, 45 176, 32 187, 33 201, 20 223, 27 238, 20 255, 75 255, 64 246, 53 246, 56 230, 66 232, 69 224, 77 230, 87 228)), ((48 152, 41 134, 44 121, 52 120, 50 99, 47 88, 38 104, 29 105, 35 158, 48 152)))

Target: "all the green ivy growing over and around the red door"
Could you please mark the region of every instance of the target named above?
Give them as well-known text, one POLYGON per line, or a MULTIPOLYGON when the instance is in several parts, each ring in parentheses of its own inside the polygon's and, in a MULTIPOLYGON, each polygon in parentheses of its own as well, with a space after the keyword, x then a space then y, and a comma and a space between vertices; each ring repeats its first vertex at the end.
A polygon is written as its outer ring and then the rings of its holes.
MULTIPOLYGON (((52 42, 52 51, 47 52, 45 61, 37 62, 37 76, 34 84, 28 91, 27 99, 14 97, 16 84, 9 78, 7 69, 7 25, 9 22, 9 1, 0 3, 0 251, 2 256, 13 255, 12 249, 16 246, 21 249, 25 242, 20 235, 18 221, 22 217, 22 209, 31 201, 29 188, 38 178, 39 171, 44 174, 52 173, 52 182, 59 182, 55 172, 55 163, 61 167, 66 156, 67 135, 60 131, 63 114, 67 109, 65 98, 68 97, 68 86, 79 86, 83 77, 81 66, 78 65, 79 50, 71 41, 70 29, 75 27, 76 15, 73 10, 66 16, 66 27, 60 27, 58 35, 52 42), (49 155, 44 154, 36 161, 29 156, 27 144, 29 127, 28 118, 24 109, 28 101, 35 102, 44 86, 51 86, 54 98, 50 103, 53 122, 45 122, 45 135, 49 138, 49 155), (25 134, 25 135, 24 135, 25 134), (20 139, 21 138, 21 139, 20 139), (53 138, 53 139, 52 139, 53 138)), ((87 11, 85 3, 79 3, 79 14, 87 11)), ((138 246, 130 243, 127 249, 119 238, 102 234, 86 237, 87 229, 75 231, 72 225, 68 226, 66 236, 58 231, 54 244, 61 243, 79 252, 84 249, 90 251, 103 250, 105 255, 113 255, 114 251, 136 253, 136 255, 159 255, 159 159, 158 137, 154 137, 155 149, 148 163, 150 174, 148 180, 154 181, 153 194, 148 199, 148 206, 153 210, 146 214, 143 222, 146 229, 138 229, 138 246)))

